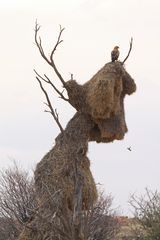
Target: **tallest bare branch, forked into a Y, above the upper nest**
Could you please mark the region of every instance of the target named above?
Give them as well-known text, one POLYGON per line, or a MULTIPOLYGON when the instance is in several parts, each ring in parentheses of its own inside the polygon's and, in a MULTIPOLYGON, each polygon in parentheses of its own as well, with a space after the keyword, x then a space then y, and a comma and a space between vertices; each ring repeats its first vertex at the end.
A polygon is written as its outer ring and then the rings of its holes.
POLYGON ((44 50, 43 50, 43 47, 42 47, 42 41, 41 41, 41 38, 39 37, 39 41, 38 41, 38 31, 40 30, 40 26, 38 25, 37 21, 35 23, 35 43, 39 49, 39 52, 41 54, 41 56, 44 58, 44 60, 53 68, 54 72, 56 73, 56 75, 58 76, 58 78, 60 79, 60 81, 62 82, 63 84, 63 87, 65 87, 65 81, 63 79, 63 77, 61 76, 60 72, 58 71, 56 65, 55 65, 55 62, 54 62, 54 59, 53 59, 53 55, 58 47, 58 45, 60 43, 62 43, 63 40, 61 40, 61 35, 62 35, 62 32, 64 31, 64 28, 61 28, 60 26, 60 32, 59 32, 59 35, 58 35, 58 39, 57 39, 57 42, 50 54, 50 58, 48 59, 47 56, 45 55, 44 53, 44 50))

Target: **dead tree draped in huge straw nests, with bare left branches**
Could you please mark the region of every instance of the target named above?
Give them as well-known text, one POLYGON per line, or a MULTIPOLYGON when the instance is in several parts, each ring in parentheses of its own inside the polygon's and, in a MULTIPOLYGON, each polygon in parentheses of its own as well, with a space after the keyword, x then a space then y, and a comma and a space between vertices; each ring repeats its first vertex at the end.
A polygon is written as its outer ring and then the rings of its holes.
POLYGON ((40 26, 36 23, 35 43, 68 97, 46 74, 42 76, 34 70, 46 98, 46 112, 53 116, 60 134, 55 139, 55 146, 37 164, 35 188, 40 207, 37 217, 29 224, 34 230, 24 230, 20 239, 87 240, 90 236, 83 229, 84 214, 93 209, 97 201, 97 189, 87 157, 88 143, 123 139, 127 132, 123 99, 126 94, 130 95, 136 90, 136 85, 124 69, 124 62, 105 64, 84 85, 73 80, 73 75, 71 80, 65 81, 54 60, 56 49, 62 43, 64 28, 60 26, 57 42, 49 57, 38 37, 39 30, 40 26), (62 100, 77 110, 65 129, 44 84, 49 84, 62 100), (51 215, 52 218, 48 218, 51 215), (47 219, 52 221, 47 224, 47 219))

